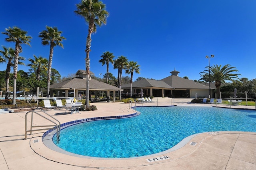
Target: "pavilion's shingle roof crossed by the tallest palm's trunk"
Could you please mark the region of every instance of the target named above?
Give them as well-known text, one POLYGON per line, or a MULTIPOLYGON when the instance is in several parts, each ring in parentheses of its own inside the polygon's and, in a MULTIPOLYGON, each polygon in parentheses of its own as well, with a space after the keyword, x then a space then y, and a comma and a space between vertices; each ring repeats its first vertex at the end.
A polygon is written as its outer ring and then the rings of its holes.
MULTIPOLYGON (((72 78, 60 83, 55 83, 50 85, 50 89, 70 89, 70 88, 76 88, 76 89, 86 89, 86 79, 82 78, 72 78)), ((121 88, 112 86, 110 84, 106 84, 104 82, 99 82, 97 80, 91 79, 90 80, 90 90, 109 90, 109 91, 117 91, 117 90, 123 90, 121 88)))

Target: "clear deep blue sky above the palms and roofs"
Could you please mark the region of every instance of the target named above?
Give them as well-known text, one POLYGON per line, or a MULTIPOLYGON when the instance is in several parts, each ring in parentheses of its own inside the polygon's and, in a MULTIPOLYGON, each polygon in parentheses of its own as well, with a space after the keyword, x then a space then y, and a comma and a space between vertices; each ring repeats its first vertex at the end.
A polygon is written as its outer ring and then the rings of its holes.
MULTIPOLYGON (((49 58, 50 46, 42 46, 38 33, 56 26, 66 38, 54 48, 52 68, 61 76, 85 70, 88 25, 74 14, 80 0, 12 0, 0 6, 0 32, 18 26, 32 36, 31 47, 22 45, 20 56, 49 58), (15 4, 15 5, 14 5, 15 4)), ((107 24, 92 35, 90 70, 95 76, 106 73, 98 61, 103 52, 126 56, 140 65, 140 77, 160 80, 179 71, 180 77, 200 79, 208 66, 206 55, 214 54, 210 65, 226 65, 239 70, 239 78, 256 78, 255 0, 102 0, 109 12, 107 24)), ((14 47, 14 43, 0 44, 14 47)), ((2 50, 2 47, 1 47, 2 50)), ((28 64, 28 60, 25 61, 28 64)), ((5 70, 6 64, 0 64, 5 70)), ((18 70, 28 72, 27 66, 18 70)), ((109 70, 117 77, 118 70, 109 70)), ((123 74, 123 76, 126 76, 123 74)), ((130 76, 130 75, 128 75, 130 76)))

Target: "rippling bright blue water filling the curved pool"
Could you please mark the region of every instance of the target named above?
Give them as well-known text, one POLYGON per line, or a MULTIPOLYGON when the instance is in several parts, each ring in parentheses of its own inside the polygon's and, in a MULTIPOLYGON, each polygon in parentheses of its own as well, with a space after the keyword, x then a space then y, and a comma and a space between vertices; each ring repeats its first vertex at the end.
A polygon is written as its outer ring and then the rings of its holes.
POLYGON ((214 107, 140 107, 132 118, 80 123, 61 130, 54 143, 68 151, 101 158, 130 158, 168 150, 192 134, 256 132, 256 111, 214 107))

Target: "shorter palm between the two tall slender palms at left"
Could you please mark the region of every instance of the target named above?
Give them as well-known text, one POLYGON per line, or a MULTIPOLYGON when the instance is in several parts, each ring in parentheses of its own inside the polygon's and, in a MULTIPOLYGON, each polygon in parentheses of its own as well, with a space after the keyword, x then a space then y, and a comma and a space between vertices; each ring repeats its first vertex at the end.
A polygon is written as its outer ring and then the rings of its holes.
POLYGON ((47 70, 48 60, 46 58, 43 58, 42 56, 39 56, 38 58, 35 55, 33 56, 35 60, 29 58, 28 61, 30 61, 31 63, 27 64, 27 66, 30 66, 30 68, 34 70, 34 72, 36 73, 36 80, 39 81, 42 70, 47 70))

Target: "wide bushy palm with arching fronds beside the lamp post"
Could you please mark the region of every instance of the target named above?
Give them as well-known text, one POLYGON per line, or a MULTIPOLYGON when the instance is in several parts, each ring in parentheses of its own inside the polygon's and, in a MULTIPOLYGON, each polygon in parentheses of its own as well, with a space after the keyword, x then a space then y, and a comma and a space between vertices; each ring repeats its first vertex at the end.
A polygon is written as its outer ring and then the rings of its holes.
MULTIPOLYGON (((232 82, 235 82, 233 80, 234 78, 238 79, 238 75, 241 74, 234 74, 232 72, 238 72, 236 70, 236 67, 231 67, 230 64, 226 64, 225 66, 221 67, 216 64, 210 67, 210 78, 209 78, 209 66, 205 67, 206 70, 203 72, 200 72, 200 76, 202 77, 200 80, 213 80, 215 81, 215 86, 217 88, 217 98, 220 97, 220 85, 221 83, 224 83, 225 80, 230 80, 232 82)), ((200 81, 198 80, 198 81, 200 81)))

